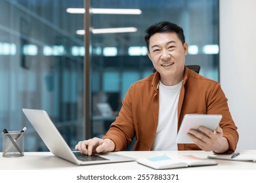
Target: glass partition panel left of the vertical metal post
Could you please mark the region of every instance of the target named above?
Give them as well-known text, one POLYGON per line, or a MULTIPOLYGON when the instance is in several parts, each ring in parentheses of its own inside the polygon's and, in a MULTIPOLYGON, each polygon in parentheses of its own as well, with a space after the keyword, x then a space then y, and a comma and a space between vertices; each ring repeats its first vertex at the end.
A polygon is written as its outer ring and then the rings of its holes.
POLYGON ((84 138, 83 15, 69 7, 83 1, 0 0, 0 129, 26 126, 26 151, 47 148, 22 108, 46 110, 72 148, 84 138))

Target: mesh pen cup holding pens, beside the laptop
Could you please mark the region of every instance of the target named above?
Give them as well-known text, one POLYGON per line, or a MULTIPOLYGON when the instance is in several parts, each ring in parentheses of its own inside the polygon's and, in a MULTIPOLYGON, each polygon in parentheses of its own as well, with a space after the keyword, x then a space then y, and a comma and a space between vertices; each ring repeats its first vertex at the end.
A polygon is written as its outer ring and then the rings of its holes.
POLYGON ((3 157, 15 158, 24 156, 24 127, 21 131, 3 130, 3 157))

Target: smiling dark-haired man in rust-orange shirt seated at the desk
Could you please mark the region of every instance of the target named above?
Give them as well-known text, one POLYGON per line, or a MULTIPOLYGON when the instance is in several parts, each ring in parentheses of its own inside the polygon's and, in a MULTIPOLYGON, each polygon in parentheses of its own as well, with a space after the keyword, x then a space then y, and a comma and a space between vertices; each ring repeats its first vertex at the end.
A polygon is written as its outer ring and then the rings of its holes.
POLYGON ((81 153, 125 150, 136 137, 133 150, 205 150, 230 154, 236 149, 238 132, 227 99, 218 82, 185 67, 188 44, 181 27, 159 22, 146 29, 148 57, 156 73, 135 82, 123 106, 102 139, 78 142, 81 153), (215 131, 190 129, 195 144, 175 144, 185 114, 221 114, 215 131))

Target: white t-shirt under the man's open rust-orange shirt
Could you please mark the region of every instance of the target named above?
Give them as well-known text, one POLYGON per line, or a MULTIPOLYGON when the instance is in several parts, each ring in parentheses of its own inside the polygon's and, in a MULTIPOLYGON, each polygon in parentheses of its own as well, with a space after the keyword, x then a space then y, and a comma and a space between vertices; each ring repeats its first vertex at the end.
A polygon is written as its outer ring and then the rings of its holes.
POLYGON ((175 143, 177 137, 177 110, 182 81, 174 86, 159 83, 159 117, 156 138, 152 150, 178 150, 175 143))

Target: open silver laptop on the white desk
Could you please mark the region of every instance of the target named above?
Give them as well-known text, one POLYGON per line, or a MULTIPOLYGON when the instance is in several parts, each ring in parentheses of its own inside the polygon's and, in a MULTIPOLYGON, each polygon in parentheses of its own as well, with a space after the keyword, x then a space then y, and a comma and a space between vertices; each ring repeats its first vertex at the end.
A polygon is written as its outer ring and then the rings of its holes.
POLYGON ((35 128, 49 150, 56 156, 66 159, 77 165, 95 165, 102 163, 116 163, 125 161, 136 161, 134 158, 121 156, 115 153, 93 154, 87 156, 79 151, 72 151, 51 118, 45 110, 22 108, 22 111, 35 128))

